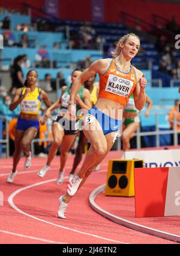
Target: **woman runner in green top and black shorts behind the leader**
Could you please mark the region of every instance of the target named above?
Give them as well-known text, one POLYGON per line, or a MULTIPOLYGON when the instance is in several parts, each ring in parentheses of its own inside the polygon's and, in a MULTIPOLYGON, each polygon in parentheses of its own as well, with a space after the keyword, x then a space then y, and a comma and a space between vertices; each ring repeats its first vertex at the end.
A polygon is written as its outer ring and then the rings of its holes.
MULTIPOLYGON (((82 73, 79 69, 75 69, 71 74, 72 83, 78 75, 82 73)), ((73 142, 77 136, 77 117, 70 116, 68 113, 68 104, 70 99, 71 87, 62 87, 61 98, 58 99, 51 107, 49 107, 45 113, 45 119, 50 117, 50 112, 59 107, 59 111, 52 124, 53 143, 50 147, 47 162, 45 166, 38 172, 38 176, 44 177, 47 170, 50 169, 50 164, 56 155, 56 152, 61 145, 60 154, 60 168, 57 183, 62 184, 64 176, 64 166, 67 161, 68 151, 73 145, 73 142)), ((90 93, 88 89, 81 87, 79 93, 76 96, 76 114, 78 110, 89 110, 91 108, 90 93)))

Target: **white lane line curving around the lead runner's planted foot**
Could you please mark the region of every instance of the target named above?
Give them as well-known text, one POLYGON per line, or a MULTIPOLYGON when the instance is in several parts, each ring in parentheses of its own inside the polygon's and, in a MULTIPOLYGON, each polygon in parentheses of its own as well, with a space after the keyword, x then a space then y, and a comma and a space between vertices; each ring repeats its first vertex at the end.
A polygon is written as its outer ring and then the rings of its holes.
MULTIPOLYGON (((98 172, 97 172, 98 173, 98 172)), ((64 178, 68 178, 68 176, 65 176, 64 178)), ((50 182, 53 182, 53 181, 56 181, 56 179, 53 179, 53 180, 47 180, 47 181, 42 181, 40 183, 35 183, 35 184, 32 184, 30 186, 26 186, 26 187, 23 187, 22 189, 18 189, 16 190, 15 192, 13 192, 9 197, 8 197, 8 203, 11 205, 11 207, 18 211, 19 213, 21 214, 24 214, 25 216, 28 216, 28 217, 31 217, 32 219, 35 219, 35 220, 39 220, 41 222, 44 222, 44 223, 47 223, 47 224, 50 224, 50 225, 53 225, 53 226, 58 226, 59 228, 64 228, 64 229, 67 229, 67 230, 70 230, 70 231, 74 231, 76 233, 80 233, 80 234, 84 234, 86 236, 92 236, 92 237, 95 237, 95 238, 98 238, 98 239, 103 239, 103 240, 107 240, 107 241, 110 241, 110 242, 115 242, 115 243, 125 243, 125 242, 121 242, 121 241, 116 241, 116 240, 113 240, 113 239, 108 239, 106 237, 101 237, 101 236, 97 236, 95 234, 91 234, 91 233, 86 233, 86 232, 83 232, 83 231, 79 231, 79 230, 76 230, 76 229, 73 229, 73 228, 67 228, 66 226, 62 226, 62 225, 58 225, 58 224, 55 224, 55 223, 52 223, 52 222, 49 222, 47 220, 43 220, 43 219, 40 219, 38 217, 35 217, 31 214, 28 214, 28 213, 25 213, 24 211, 20 210, 13 202, 13 199, 14 199, 14 196, 16 196, 17 194, 19 194, 20 192, 22 192, 23 190, 26 190, 26 189, 31 189, 32 187, 35 187, 35 186, 40 186, 42 184, 45 184, 45 183, 50 183, 50 182)), ((65 220, 60 220, 59 221, 65 221, 65 220)))

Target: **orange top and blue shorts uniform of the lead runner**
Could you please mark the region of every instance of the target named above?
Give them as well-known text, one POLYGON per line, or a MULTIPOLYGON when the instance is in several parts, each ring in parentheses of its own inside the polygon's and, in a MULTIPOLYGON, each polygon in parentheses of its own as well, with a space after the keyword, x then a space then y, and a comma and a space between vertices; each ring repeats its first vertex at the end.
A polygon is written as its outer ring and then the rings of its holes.
MULTIPOLYGON (((125 107, 136 87, 136 83, 137 79, 134 67, 131 66, 129 72, 123 72, 118 69, 116 59, 113 58, 106 72, 100 76, 99 98, 110 99, 125 107)), ((88 113, 98 120, 104 135, 120 130, 121 120, 107 116, 97 107, 91 108, 88 113)), ((86 118, 85 123, 88 124, 89 122, 91 122, 91 117, 86 118)))

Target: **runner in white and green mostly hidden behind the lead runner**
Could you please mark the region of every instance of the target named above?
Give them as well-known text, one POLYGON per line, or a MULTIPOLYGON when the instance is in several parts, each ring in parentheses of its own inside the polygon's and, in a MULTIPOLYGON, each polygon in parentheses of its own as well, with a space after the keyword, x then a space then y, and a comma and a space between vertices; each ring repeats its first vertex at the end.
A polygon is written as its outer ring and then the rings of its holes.
MULTIPOLYGON (((146 95, 146 103, 148 104, 145 116, 149 116, 149 112, 152 108, 152 101, 148 95, 146 95)), ((131 95, 128 100, 127 105, 125 106, 123 113, 124 122, 122 125, 122 149, 123 151, 127 151, 130 149, 130 140, 134 137, 134 133, 136 133, 137 129, 140 126, 140 118, 139 118, 139 110, 136 109, 134 105, 134 98, 131 95)))

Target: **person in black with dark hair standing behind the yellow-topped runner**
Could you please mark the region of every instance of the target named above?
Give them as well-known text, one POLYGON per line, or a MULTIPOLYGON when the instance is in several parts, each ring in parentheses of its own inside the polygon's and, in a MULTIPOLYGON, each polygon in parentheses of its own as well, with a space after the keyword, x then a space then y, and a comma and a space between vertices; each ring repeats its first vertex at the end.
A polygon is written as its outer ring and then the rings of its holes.
POLYGON ((14 63, 10 67, 10 73, 11 73, 11 89, 10 92, 13 90, 13 88, 20 88, 23 87, 23 72, 21 68, 21 63, 23 61, 23 55, 18 55, 16 58, 14 58, 14 63))

